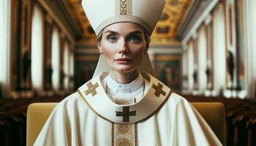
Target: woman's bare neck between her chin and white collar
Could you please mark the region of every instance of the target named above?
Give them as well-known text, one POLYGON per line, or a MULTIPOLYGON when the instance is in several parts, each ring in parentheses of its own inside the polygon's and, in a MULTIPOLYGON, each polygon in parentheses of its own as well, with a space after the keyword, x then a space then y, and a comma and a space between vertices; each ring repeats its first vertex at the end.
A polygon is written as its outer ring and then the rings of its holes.
POLYGON ((110 71, 110 77, 113 78, 113 80, 116 80, 119 84, 128 84, 129 82, 132 82, 133 80, 138 77, 138 70, 135 69, 132 72, 113 72, 110 71))

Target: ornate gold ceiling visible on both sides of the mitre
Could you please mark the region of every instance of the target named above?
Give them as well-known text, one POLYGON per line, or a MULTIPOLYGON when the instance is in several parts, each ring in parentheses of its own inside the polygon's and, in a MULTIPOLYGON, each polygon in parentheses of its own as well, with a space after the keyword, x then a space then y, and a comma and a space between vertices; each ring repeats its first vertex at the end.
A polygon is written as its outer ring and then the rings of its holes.
MULTIPOLYGON (((94 30, 83 11, 81 0, 65 0, 72 17, 83 31, 83 37, 95 40, 94 30)), ((166 0, 162 16, 152 34, 152 42, 169 42, 176 37, 176 31, 181 21, 187 15, 187 10, 193 0, 166 0)))

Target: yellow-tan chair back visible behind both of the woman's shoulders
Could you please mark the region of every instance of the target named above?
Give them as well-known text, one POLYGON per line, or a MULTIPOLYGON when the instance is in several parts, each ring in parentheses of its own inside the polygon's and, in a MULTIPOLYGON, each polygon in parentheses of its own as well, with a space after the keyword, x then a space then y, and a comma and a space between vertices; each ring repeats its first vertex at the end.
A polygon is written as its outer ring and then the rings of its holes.
MULTIPOLYGON (((58 103, 30 104, 27 111, 27 145, 33 145, 50 112, 58 103)), ((203 116, 213 129, 220 142, 225 145, 225 108, 219 102, 192 102, 192 105, 203 116)))

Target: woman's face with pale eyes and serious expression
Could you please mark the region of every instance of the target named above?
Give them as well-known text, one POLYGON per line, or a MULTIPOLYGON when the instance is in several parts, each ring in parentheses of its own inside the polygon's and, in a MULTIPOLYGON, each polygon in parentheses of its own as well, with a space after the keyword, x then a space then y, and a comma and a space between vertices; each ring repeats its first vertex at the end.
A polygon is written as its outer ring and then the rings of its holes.
POLYGON ((112 71, 132 72, 147 48, 145 31, 135 23, 114 23, 103 30, 98 47, 112 71))

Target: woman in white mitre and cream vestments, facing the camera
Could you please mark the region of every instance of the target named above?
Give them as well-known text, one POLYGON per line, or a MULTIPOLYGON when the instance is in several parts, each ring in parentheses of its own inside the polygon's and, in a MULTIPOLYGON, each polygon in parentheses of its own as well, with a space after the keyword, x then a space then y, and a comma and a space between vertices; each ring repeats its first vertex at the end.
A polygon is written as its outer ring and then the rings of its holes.
POLYGON ((154 78, 149 36, 165 1, 82 4, 97 34, 99 64, 53 110, 35 145, 221 145, 198 112, 154 78))

